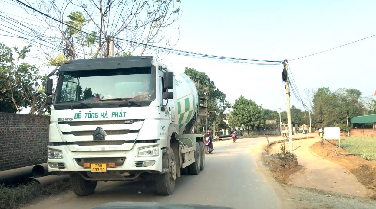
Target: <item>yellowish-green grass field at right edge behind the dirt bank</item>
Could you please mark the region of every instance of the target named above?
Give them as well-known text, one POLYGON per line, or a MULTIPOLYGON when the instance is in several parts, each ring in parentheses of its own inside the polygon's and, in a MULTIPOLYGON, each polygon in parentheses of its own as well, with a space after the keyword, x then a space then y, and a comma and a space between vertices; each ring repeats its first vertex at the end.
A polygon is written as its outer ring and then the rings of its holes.
POLYGON ((362 158, 376 160, 376 137, 346 137, 341 139, 341 147, 351 154, 362 154, 362 158))

